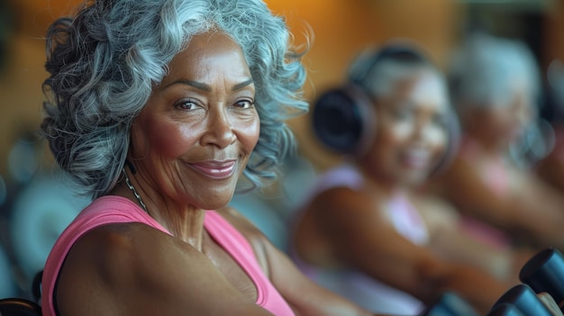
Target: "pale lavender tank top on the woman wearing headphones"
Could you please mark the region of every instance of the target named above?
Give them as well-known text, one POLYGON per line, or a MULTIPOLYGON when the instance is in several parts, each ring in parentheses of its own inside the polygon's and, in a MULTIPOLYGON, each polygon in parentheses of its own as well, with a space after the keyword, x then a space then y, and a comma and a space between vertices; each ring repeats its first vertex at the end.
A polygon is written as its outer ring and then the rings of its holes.
MULTIPOLYGON (((364 178, 355 167, 341 165, 319 176, 310 196, 334 187, 349 187, 360 190, 364 178)), ((387 204, 387 216, 394 229, 415 245, 429 241, 427 227, 420 213, 403 195, 396 195, 387 204)), ((301 214, 298 214, 298 217, 301 214)), ((296 253, 291 252, 296 265, 315 283, 339 293, 368 311, 391 315, 418 315, 424 309, 423 302, 413 295, 350 268, 325 269, 305 263, 296 253)), ((378 265, 378 262, 375 263, 378 265)))

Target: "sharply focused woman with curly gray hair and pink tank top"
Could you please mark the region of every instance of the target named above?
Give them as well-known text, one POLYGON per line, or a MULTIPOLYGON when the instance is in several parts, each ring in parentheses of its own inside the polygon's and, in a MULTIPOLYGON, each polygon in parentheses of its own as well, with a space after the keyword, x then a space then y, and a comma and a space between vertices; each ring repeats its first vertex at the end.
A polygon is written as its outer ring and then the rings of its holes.
POLYGON ((98 0, 52 23, 41 129, 94 200, 51 250, 44 315, 368 314, 226 206, 294 148, 289 40, 259 0, 98 0))

